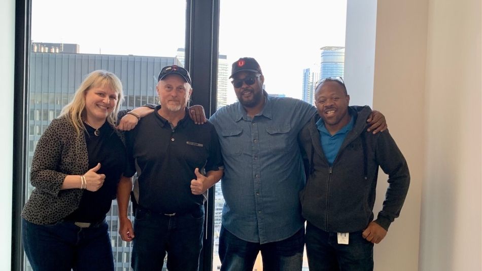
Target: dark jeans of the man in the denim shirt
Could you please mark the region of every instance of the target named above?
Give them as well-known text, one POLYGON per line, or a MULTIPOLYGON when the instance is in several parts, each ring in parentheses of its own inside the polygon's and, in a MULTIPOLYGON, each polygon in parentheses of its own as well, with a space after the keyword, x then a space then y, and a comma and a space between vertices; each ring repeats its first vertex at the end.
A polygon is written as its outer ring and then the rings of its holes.
POLYGON ((301 228, 288 239, 261 245, 241 240, 221 226, 219 235, 221 271, 253 270, 259 251, 261 251, 265 271, 301 270, 303 238, 304 228, 301 228))

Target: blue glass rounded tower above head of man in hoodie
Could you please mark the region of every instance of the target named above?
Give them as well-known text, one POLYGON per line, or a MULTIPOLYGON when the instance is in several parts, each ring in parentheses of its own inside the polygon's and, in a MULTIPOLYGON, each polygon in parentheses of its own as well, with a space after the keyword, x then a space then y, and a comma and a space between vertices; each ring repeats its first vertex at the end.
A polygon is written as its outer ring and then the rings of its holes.
POLYGON ((345 47, 326 46, 321 49, 320 79, 341 76, 345 70, 345 47))

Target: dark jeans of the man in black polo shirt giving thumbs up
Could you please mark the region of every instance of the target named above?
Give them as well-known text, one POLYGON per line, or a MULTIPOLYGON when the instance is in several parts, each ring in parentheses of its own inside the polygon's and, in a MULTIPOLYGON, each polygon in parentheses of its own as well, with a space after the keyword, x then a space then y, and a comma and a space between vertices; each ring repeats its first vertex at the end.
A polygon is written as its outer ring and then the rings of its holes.
POLYGON ((167 216, 137 207, 134 220, 132 268, 161 270, 167 252, 169 271, 197 271, 202 248, 204 206, 167 216))

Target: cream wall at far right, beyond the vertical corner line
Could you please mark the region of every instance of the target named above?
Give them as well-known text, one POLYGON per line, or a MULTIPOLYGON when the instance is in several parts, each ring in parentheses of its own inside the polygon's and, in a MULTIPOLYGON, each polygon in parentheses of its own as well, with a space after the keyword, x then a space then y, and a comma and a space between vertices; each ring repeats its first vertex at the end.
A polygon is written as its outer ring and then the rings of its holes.
POLYGON ((420 270, 482 270, 481 4, 429 2, 420 270))

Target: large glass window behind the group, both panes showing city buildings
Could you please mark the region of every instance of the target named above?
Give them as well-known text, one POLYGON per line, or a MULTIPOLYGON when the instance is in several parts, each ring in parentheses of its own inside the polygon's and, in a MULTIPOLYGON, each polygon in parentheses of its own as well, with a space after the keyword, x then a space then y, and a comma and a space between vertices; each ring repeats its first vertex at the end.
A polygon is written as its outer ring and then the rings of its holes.
MULTIPOLYGON (((346 1, 301 0, 295 4, 220 0, 217 108, 236 101, 228 76, 231 63, 240 57, 258 60, 268 94, 308 103, 313 103, 314 82, 322 76, 343 75, 340 72, 345 53, 346 1), (338 49, 331 52, 330 48, 338 49), (336 57, 324 57, 331 55, 336 57), (324 73, 325 70, 333 74, 324 73)), ((155 84, 160 68, 184 65, 185 15, 185 1, 86 0, 71 7, 59 0, 32 0, 27 198, 33 189, 28 172, 37 141, 72 99, 84 76, 95 69, 116 73, 124 87, 122 109, 156 103, 155 84)), ((220 267, 218 244, 223 204, 218 183, 213 270, 220 267)), ((131 244, 117 234, 117 215, 114 201, 107 218, 116 270, 129 270, 131 244)), ((255 270, 262 270, 260 259, 255 270)), ((24 266, 31 269, 28 263, 24 266)), ((303 266, 307 269, 306 260, 303 266)))

